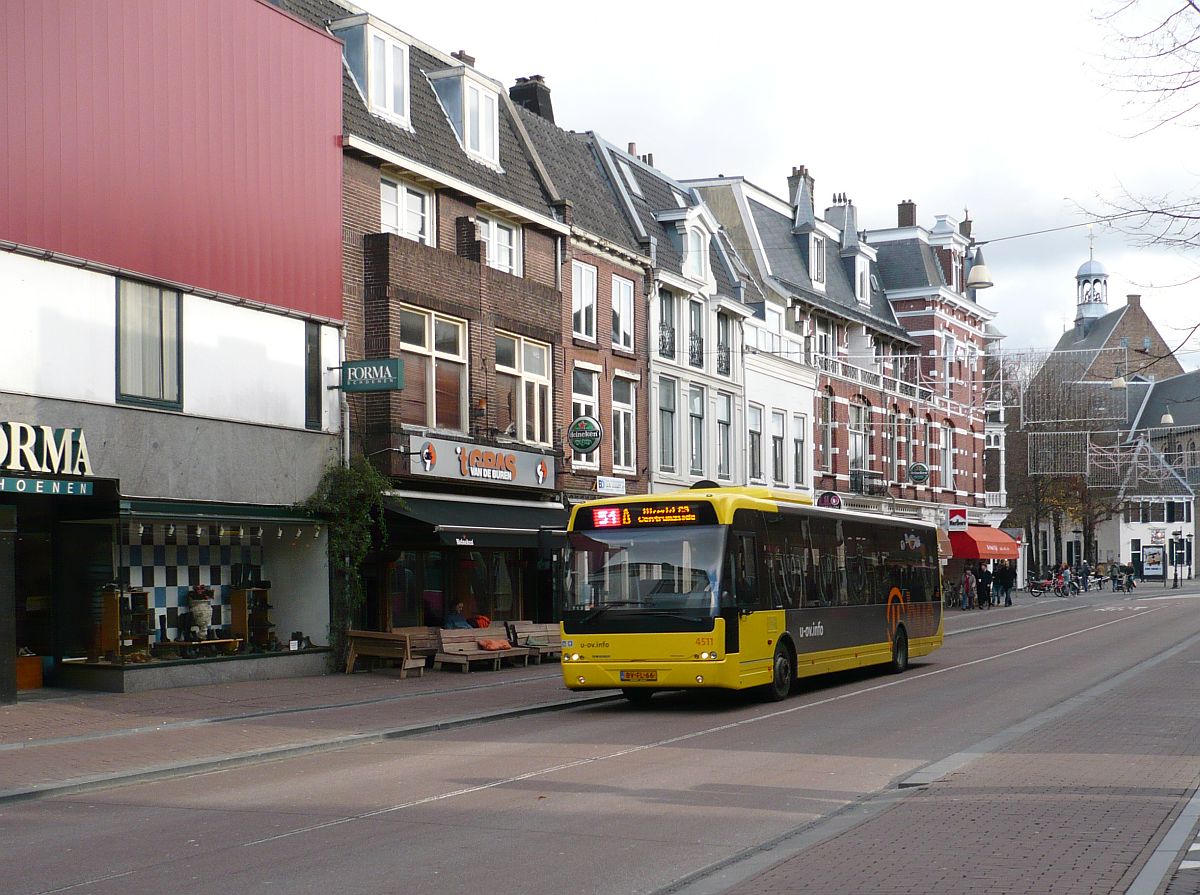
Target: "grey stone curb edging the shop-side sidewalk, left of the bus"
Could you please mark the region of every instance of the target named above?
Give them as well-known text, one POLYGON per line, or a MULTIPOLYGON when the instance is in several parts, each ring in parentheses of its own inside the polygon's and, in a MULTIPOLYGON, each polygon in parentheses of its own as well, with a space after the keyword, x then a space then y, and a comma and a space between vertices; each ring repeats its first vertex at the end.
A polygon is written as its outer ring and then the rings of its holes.
POLYGON ((346 749, 347 746, 385 743, 388 740, 415 737, 421 733, 452 731, 458 727, 469 727, 485 721, 500 721, 510 717, 522 717, 524 715, 563 711, 577 705, 592 705, 620 698, 620 693, 607 692, 595 696, 578 696, 571 699, 558 699, 554 702, 522 705, 520 708, 502 709, 498 711, 478 711, 472 715, 460 715, 458 717, 448 717, 438 721, 424 721, 413 725, 404 725, 403 727, 390 727, 382 731, 373 731, 371 733, 350 733, 295 746, 271 746, 268 749, 256 750, 253 752, 241 752, 226 758, 206 758, 203 761, 188 762, 186 764, 164 764, 144 770, 118 771, 115 774, 103 774, 91 777, 77 777, 74 780, 47 783, 46 786, 35 786, 26 789, 0 789, 0 805, 18 801, 32 801, 35 799, 44 799, 53 795, 68 795, 92 792, 96 789, 107 789, 114 786, 128 786, 132 783, 170 780, 173 777, 192 776, 194 774, 206 774, 217 770, 245 768, 253 764, 281 761, 283 758, 295 758, 305 755, 330 752, 337 749, 346 749))

